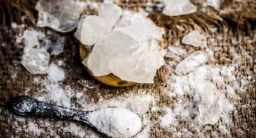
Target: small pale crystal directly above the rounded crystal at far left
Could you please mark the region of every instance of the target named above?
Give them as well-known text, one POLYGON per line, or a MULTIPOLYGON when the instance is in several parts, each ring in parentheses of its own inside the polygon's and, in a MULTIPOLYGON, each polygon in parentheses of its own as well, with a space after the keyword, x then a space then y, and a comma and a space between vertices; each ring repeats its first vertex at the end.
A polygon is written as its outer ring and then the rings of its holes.
POLYGON ((39 44, 39 39, 38 39, 39 33, 37 31, 30 31, 30 30, 25 30, 22 38, 25 43, 25 47, 27 49, 33 48, 34 46, 40 46, 39 44))

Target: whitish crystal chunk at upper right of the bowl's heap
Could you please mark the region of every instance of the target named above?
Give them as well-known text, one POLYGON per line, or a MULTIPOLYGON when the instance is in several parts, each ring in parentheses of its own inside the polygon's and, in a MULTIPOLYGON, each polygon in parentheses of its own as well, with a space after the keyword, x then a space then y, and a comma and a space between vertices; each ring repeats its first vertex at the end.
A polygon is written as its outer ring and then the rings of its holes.
POLYGON ((164 29, 154 25, 151 20, 145 19, 139 13, 123 11, 122 17, 114 27, 114 31, 121 31, 123 34, 130 35, 140 45, 143 45, 151 38, 162 40, 164 29))

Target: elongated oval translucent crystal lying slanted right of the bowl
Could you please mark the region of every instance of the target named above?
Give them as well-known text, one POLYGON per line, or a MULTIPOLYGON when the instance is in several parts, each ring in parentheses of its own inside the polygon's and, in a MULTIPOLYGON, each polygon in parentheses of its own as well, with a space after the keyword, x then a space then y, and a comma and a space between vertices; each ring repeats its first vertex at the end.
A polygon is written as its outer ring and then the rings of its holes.
POLYGON ((205 64, 208 60, 208 55, 202 51, 197 51, 190 54, 187 58, 181 61, 175 68, 175 73, 178 76, 187 74, 196 70, 201 65, 205 64))

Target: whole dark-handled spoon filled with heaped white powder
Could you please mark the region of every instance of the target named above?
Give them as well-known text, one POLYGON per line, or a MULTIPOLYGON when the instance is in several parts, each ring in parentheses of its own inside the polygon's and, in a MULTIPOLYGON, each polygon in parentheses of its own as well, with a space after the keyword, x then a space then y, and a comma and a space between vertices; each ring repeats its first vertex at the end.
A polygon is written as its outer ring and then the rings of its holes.
POLYGON ((10 98, 7 107, 17 115, 37 115, 81 121, 108 137, 133 137, 142 129, 140 116, 120 107, 81 111, 44 103, 29 96, 10 98), (119 124, 120 120, 124 122, 119 124))

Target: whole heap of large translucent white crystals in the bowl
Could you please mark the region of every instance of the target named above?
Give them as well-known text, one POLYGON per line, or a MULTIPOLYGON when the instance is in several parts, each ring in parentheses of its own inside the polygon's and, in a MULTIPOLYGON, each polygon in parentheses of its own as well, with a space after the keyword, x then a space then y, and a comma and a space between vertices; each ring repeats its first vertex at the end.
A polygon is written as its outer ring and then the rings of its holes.
POLYGON ((101 4, 98 16, 80 21, 76 37, 92 48, 83 61, 94 76, 113 73, 122 80, 154 83, 158 68, 164 64, 160 50, 164 29, 133 11, 113 4, 101 4))

